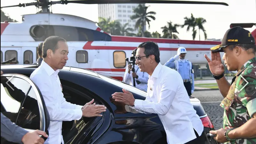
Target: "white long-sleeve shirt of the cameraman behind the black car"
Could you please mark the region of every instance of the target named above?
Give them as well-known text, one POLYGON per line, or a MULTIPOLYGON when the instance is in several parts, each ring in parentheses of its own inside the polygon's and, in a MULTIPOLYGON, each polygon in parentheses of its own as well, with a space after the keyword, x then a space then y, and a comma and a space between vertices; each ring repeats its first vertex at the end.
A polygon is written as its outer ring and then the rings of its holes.
MULTIPOLYGON (((135 69, 136 75, 138 76, 138 79, 135 78, 135 87, 147 92, 147 89, 148 89, 148 73, 141 72, 138 65, 134 65, 134 69, 135 69), (140 84, 137 84, 136 80, 140 81, 140 84)), ((124 82, 126 84, 130 84, 130 85, 133 86, 132 71, 129 74, 128 70, 129 70, 129 68, 127 66, 126 69, 125 69, 125 73, 124 73, 124 82)))

